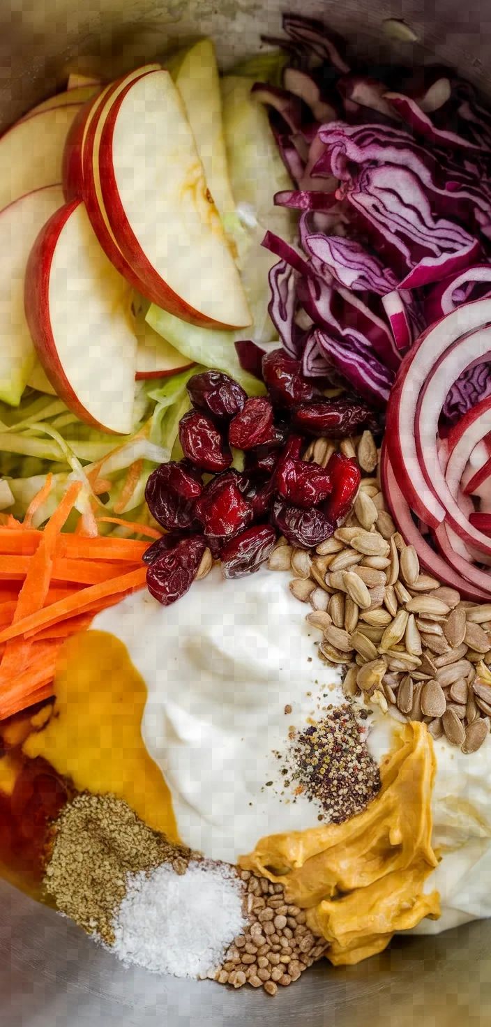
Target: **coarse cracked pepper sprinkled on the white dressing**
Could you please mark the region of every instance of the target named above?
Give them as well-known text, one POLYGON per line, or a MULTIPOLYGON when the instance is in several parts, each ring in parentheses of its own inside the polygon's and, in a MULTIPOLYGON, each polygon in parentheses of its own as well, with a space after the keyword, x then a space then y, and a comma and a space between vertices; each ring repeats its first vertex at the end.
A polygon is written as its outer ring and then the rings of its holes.
POLYGON ((380 773, 349 706, 296 733, 281 768, 296 792, 319 803, 318 820, 343 824, 380 791, 380 773))

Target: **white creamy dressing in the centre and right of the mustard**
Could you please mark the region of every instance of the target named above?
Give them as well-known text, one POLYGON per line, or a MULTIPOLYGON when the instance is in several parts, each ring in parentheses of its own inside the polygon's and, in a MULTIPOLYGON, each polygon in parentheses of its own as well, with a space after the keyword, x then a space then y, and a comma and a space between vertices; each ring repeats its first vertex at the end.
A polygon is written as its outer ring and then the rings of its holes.
MULTIPOLYGON (((294 802, 290 789, 281 795, 274 751, 285 753, 291 726, 305 727, 343 695, 289 580, 263 569, 225 581, 215 568, 171 607, 143 591, 93 621, 124 642, 144 678, 145 744, 169 785, 183 840, 214 859, 234 862, 263 835, 317 826, 315 803, 294 802)), ((392 727, 375 708, 369 748, 378 761, 392 727)), ((432 841, 443 861, 425 890, 440 891, 443 915, 423 920, 419 934, 491 916, 491 737, 470 756, 446 740, 435 752, 432 841)))

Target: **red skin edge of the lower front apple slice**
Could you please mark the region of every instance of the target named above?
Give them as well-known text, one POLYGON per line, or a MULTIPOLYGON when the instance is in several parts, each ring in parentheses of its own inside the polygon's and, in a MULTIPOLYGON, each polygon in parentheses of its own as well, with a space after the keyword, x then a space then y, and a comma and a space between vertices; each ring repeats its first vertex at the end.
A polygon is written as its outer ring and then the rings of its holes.
POLYGON ((48 296, 54 249, 65 224, 80 202, 81 200, 73 200, 72 203, 62 206, 41 229, 31 250, 26 268, 24 309, 36 352, 48 380, 56 390, 56 395, 84 424, 89 424, 90 427, 99 428, 108 434, 119 434, 120 432, 110 431, 106 425, 97 421, 75 395, 60 362, 51 331, 48 296))

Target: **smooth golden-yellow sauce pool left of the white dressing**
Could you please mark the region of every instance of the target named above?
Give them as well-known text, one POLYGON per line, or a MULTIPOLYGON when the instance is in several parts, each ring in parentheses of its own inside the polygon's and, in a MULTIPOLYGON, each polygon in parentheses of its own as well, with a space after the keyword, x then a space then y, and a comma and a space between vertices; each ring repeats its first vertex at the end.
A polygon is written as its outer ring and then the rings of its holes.
POLYGON ((79 792, 114 793, 156 831, 178 840, 171 793, 142 738, 147 687, 126 647, 89 631, 68 639, 54 679, 56 700, 43 730, 24 744, 79 792))

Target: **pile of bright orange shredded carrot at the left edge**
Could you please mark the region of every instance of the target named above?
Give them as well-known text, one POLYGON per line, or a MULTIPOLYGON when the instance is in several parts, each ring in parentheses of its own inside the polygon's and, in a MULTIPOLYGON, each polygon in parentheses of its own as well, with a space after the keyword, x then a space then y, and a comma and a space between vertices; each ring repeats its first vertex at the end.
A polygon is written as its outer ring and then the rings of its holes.
MULTIPOLYGON (((128 496, 129 485, 134 490, 140 478, 138 462, 128 471, 128 496)), ((98 520, 150 538, 161 534, 119 518, 93 516, 81 517, 75 534, 62 534, 79 482, 69 487, 44 529, 34 529, 33 518, 51 484, 47 476, 24 524, 10 515, 0 524, 0 719, 51 695, 64 640, 145 585, 142 557, 150 543, 97 535, 98 520)))

